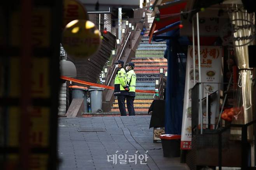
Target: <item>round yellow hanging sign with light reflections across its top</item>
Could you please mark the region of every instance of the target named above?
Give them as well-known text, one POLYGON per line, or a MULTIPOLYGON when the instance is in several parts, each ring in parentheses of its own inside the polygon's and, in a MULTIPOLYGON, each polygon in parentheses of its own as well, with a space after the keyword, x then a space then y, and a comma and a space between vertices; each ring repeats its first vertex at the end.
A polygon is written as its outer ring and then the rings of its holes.
POLYGON ((81 59, 96 54, 100 48, 101 33, 88 20, 74 20, 63 30, 62 45, 68 55, 81 59))

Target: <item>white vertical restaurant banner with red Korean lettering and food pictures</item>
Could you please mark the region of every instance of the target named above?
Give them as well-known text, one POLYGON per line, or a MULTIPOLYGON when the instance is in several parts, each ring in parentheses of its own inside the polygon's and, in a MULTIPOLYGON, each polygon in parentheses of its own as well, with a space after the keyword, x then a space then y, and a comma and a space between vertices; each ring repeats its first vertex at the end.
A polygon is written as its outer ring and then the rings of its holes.
MULTIPOLYGON (((198 71, 198 51, 195 46, 195 80, 193 73, 193 46, 188 46, 188 58, 186 67, 186 83, 184 91, 184 105, 183 105, 183 118, 182 118, 182 132, 181 132, 181 149, 191 149, 191 90, 199 81, 198 71)), ((221 82, 221 58, 222 58, 221 46, 201 46, 201 81, 203 87, 203 97, 206 94, 212 94, 220 88, 218 83, 221 82)), ((206 123, 206 107, 203 104, 203 124, 206 123)), ((218 112, 218 100, 217 97, 210 104, 210 128, 213 128, 215 124, 216 113, 218 112)), ((205 127, 204 127, 205 128, 205 127)))

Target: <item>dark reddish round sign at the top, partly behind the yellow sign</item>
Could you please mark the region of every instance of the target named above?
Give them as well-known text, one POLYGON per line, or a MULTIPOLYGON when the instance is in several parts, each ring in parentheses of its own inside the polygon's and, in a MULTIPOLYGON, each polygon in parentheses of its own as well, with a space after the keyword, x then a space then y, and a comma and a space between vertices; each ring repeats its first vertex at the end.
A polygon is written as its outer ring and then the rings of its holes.
POLYGON ((89 19, 84 5, 78 0, 64 0, 62 28, 75 19, 89 19))

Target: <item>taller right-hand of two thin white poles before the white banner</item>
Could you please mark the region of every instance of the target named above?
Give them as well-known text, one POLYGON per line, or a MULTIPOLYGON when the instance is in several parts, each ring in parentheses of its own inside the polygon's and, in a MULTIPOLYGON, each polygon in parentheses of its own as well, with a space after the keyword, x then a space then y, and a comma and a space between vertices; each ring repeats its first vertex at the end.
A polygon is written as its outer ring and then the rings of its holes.
POLYGON ((197 54, 198 54, 198 72, 199 72, 199 117, 201 120, 201 134, 203 134, 203 114, 202 114, 202 83, 201 83, 201 61, 200 61, 200 40, 199 40, 199 19, 198 12, 196 13, 196 26, 197 26, 197 54))

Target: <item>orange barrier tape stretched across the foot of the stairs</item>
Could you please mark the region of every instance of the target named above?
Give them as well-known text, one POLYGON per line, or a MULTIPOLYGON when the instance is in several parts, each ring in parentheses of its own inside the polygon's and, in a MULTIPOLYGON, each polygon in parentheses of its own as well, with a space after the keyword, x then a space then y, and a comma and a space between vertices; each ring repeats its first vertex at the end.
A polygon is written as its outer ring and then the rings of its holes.
MULTIPOLYGON (((80 83, 80 84, 84 84, 84 85, 89 85, 89 86, 95 86, 95 87, 101 87, 101 88, 107 88, 107 89, 110 89, 110 90, 114 90, 114 87, 112 87, 112 86, 106 86, 106 85, 97 84, 97 83, 85 82, 85 81, 82 81, 82 80, 77 80, 77 79, 66 77, 66 76, 60 76, 60 78, 63 79, 63 80, 68 80, 68 81, 72 81, 72 82, 76 82, 76 83, 80 83)), ((139 92, 139 93, 156 93, 153 90, 136 90, 136 92, 139 92)))

